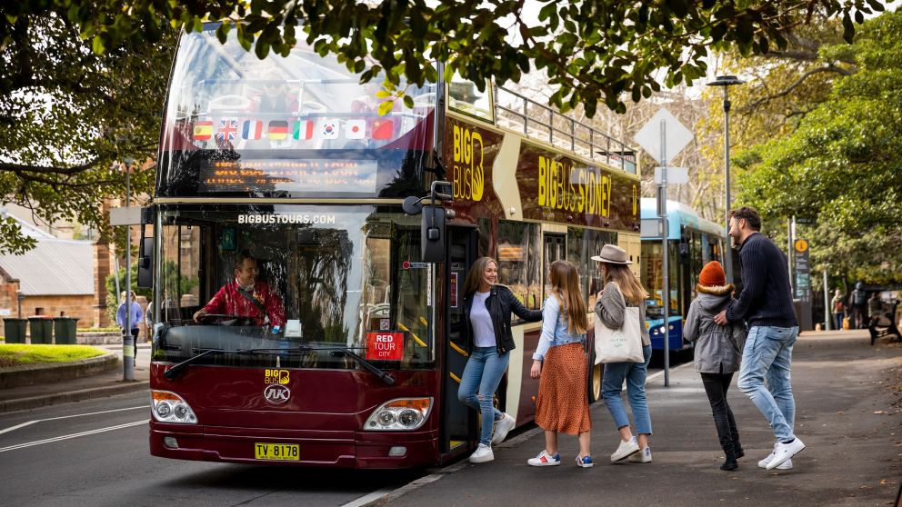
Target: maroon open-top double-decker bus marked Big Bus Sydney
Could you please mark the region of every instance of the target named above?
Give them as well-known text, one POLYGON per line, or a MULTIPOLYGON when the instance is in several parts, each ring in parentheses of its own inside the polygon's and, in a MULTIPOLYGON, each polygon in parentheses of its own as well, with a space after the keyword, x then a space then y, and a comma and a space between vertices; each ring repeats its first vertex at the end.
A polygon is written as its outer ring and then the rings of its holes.
MULTIPOLYGON (((634 155, 491 84, 409 87, 413 107, 380 114, 379 85, 303 41, 261 60, 214 29, 179 42, 145 213, 150 452, 396 468, 472 451, 478 416, 456 394, 468 266, 494 256, 535 309, 567 259, 591 309, 590 257, 614 243, 638 259, 634 155)), ((540 323, 512 333, 497 403, 524 424, 540 323)))

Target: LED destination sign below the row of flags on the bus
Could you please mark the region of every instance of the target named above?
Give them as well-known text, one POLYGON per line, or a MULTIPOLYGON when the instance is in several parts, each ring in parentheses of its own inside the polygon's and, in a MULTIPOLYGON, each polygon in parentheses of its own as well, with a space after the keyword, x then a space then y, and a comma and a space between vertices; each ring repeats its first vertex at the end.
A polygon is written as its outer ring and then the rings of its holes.
POLYGON ((377 167, 375 160, 216 161, 201 169, 198 191, 374 194, 377 167))

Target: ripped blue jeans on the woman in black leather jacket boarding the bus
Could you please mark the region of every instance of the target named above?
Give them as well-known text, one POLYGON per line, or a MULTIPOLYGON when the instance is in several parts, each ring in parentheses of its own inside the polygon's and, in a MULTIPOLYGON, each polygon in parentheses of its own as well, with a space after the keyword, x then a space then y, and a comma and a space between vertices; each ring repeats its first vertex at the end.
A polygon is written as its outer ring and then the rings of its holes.
POLYGON ((464 376, 460 379, 457 399, 466 406, 478 410, 482 416, 482 434, 479 443, 492 444, 492 426, 504 413, 496 410, 492 398, 507 370, 510 353, 498 355, 495 347, 474 347, 466 360, 464 376), (478 393, 476 394, 476 389, 478 393), (486 417, 486 413, 492 417, 486 417))

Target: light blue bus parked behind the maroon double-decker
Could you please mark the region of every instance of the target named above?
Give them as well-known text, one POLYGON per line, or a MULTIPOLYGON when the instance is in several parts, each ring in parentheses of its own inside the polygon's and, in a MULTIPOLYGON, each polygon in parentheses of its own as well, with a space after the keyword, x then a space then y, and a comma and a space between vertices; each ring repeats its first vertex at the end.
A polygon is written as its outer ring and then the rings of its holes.
MULTIPOLYGON (((656 222, 656 199, 643 198, 642 219, 656 222)), ((698 216, 686 204, 667 201, 667 262, 669 287, 669 350, 680 351, 693 346, 683 339, 683 322, 689 304, 695 299, 698 274, 711 261, 724 262, 724 228, 698 216)), ((664 247, 655 227, 642 233, 641 280, 648 293, 646 325, 652 350, 664 350, 664 247)))

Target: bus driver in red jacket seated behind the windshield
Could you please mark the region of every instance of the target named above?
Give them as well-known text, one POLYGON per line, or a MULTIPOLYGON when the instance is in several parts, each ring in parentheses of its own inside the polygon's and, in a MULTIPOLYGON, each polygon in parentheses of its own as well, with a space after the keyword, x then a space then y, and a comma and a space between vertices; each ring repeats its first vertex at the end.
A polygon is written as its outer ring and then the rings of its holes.
POLYGON ((235 279, 226 283, 213 299, 195 313, 194 320, 201 323, 205 315, 227 314, 251 317, 256 325, 285 325, 285 307, 266 282, 257 282, 260 274, 256 259, 248 252, 238 255, 235 263, 235 279))

